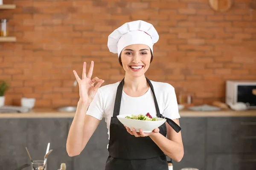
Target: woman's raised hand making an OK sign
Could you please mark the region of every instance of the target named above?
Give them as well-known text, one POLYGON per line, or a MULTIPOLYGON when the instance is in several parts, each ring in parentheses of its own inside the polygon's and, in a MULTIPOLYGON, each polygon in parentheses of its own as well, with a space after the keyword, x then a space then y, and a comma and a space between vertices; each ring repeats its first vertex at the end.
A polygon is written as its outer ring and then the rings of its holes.
POLYGON ((93 79, 91 79, 93 74, 93 66, 94 62, 92 61, 90 65, 90 70, 86 76, 86 62, 84 62, 82 79, 80 79, 76 71, 73 70, 73 73, 76 77, 76 81, 79 84, 79 100, 83 103, 86 103, 87 105, 90 105, 90 103, 93 101, 93 98, 97 93, 99 87, 104 82, 104 80, 99 79, 98 77, 94 77, 93 79), (94 83, 96 82, 97 84, 94 86, 94 83))

